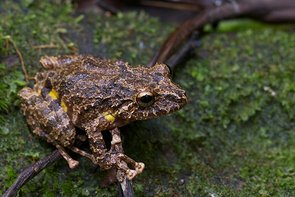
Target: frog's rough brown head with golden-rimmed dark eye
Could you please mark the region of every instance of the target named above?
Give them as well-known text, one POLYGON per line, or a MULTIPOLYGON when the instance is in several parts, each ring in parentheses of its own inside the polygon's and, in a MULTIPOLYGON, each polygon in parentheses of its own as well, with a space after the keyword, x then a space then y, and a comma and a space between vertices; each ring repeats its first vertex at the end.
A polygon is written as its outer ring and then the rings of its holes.
POLYGON ((132 72, 125 72, 121 84, 129 94, 120 104, 117 116, 126 122, 145 120, 181 109, 187 103, 185 91, 171 79, 172 71, 165 64, 156 64, 152 68, 137 66, 132 72))

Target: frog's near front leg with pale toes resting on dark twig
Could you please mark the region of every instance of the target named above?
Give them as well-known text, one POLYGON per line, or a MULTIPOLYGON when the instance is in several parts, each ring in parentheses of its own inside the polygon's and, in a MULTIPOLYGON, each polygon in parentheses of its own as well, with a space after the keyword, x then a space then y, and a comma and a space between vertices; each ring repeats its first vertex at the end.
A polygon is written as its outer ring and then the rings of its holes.
MULTIPOLYGON (((100 167, 110 168, 115 166, 126 173, 128 180, 132 180, 137 174, 142 173, 145 168, 144 163, 137 163, 121 153, 112 154, 111 151, 107 151, 102 133, 97 129, 98 124, 98 121, 94 121, 92 124, 89 124, 86 127, 86 133, 89 138, 90 148, 100 167), (132 170, 128 168, 128 166, 122 164, 121 160, 132 164, 135 170, 132 170)), ((115 138, 117 138, 117 136, 115 138)))

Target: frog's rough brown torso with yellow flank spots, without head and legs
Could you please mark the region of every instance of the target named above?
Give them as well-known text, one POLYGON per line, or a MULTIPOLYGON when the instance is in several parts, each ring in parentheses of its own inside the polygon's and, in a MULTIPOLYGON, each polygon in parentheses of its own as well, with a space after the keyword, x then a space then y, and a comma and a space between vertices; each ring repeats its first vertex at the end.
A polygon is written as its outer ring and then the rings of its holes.
POLYGON ((116 81, 126 74, 127 67, 131 66, 120 60, 83 58, 38 73, 34 89, 43 97, 54 93, 75 126, 83 129, 82 123, 113 105, 121 88, 116 81))

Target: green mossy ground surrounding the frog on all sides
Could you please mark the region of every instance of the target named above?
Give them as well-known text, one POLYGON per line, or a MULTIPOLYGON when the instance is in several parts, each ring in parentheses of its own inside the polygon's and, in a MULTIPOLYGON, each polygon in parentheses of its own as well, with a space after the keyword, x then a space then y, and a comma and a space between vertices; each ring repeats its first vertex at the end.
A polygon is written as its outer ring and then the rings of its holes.
MULTIPOLYGON (((144 12, 112 17, 73 12, 69 1, 0 2, 0 194, 22 169, 55 150, 32 134, 20 110, 24 74, 13 45, 6 48, 7 35, 33 76, 42 70, 42 55, 70 54, 73 44, 80 53, 145 65, 176 27, 144 12), (93 36, 85 38, 89 31, 93 36), (95 43, 92 52, 83 50, 85 39, 95 43), (33 47, 44 44, 57 48, 33 47)), ((211 32, 202 42, 174 71, 187 91, 187 106, 121 129, 125 153, 146 164, 133 181, 136 196, 295 196, 295 32, 269 27, 211 32)), ((98 187, 104 172, 92 173, 88 159, 72 155, 80 162, 76 169, 60 160, 18 196, 116 195, 116 185, 98 187)))

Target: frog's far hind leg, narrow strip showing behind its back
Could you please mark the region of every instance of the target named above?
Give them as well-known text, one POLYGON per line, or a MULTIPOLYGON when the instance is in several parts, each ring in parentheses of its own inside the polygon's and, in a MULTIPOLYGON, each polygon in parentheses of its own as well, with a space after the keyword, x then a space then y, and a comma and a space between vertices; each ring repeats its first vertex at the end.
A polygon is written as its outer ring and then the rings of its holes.
POLYGON ((82 60, 83 58, 89 58, 95 61, 107 61, 106 59, 103 59, 99 56, 93 56, 93 55, 63 55, 63 56, 43 56, 41 57, 39 62, 45 69, 50 70, 54 68, 60 68, 62 66, 68 65, 77 60, 82 60))

